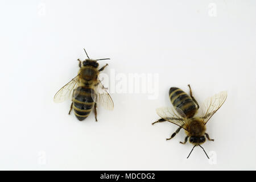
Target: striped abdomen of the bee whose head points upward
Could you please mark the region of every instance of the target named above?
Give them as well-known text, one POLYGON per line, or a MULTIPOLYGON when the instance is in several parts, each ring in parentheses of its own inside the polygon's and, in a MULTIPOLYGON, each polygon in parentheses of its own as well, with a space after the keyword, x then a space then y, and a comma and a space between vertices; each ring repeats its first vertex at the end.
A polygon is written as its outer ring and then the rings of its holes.
POLYGON ((79 86, 74 90, 73 109, 77 119, 80 121, 87 118, 90 111, 92 111, 94 95, 94 90, 86 86, 79 86))

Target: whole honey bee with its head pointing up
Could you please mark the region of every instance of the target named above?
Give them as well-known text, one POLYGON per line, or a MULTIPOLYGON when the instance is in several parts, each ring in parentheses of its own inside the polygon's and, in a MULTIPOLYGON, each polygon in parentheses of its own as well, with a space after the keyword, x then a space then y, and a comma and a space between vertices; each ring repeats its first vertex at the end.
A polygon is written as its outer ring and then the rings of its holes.
MULTIPOLYGON (((85 51, 85 49, 84 49, 85 51)), ((86 51, 85 51, 86 53, 86 51)), ((99 60, 107 59, 90 59, 86 53, 88 59, 79 61, 78 75, 64 85, 54 96, 55 102, 63 102, 64 100, 72 99, 71 107, 68 114, 71 114, 72 109, 79 119, 84 120, 90 114, 94 107, 95 119, 97 120, 97 105, 102 105, 105 109, 113 110, 114 103, 106 88, 102 85, 98 75, 101 71, 108 66, 98 69, 99 60)))

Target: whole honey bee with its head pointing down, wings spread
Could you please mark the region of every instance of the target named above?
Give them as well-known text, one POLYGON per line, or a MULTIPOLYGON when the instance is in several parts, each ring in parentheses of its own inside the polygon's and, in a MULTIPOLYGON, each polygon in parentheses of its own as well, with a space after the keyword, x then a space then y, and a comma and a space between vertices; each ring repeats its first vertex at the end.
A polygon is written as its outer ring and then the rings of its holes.
MULTIPOLYGON (((208 133, 206 133, 206 124, 209 119, 212 117, 214 113, 224 104, 227 93, 220 92, 206 100, 204 102, 204 109, 203 114, 197 114, 199 110, 199 104, 192 96, 192 90, 190 85, 189 87, 189 96, 183 90, 172 87, 169 91, 169 97, 171 103, 174 107, 161 107, 156 109, 156 113, 161 117, 158 121, 152 123, 154 125, 158 122, 171 122, 175 125, 179 126, 179 128, 171 135, 170 138, 166 140, 170 140, 175 137, 177 133, 179 133, 180 129, 184 129, 186 133, 186 137, 184 142, 180 142, 181 144, 185 144, 187 140, 192 143, 194 146, 191 150, 196 146, 199 146, 203 149, 204 148, 200 145, 205 142, 205 137, 208 140, 214 141, 214 139, 210 139, 208 133)), ((189 153, 188 157, 190 156, 191 152, 189 153)), ((207 155, 207 152, 205 152, 207 155)), ((207 158, 209 159, 208 155, 207 158)))

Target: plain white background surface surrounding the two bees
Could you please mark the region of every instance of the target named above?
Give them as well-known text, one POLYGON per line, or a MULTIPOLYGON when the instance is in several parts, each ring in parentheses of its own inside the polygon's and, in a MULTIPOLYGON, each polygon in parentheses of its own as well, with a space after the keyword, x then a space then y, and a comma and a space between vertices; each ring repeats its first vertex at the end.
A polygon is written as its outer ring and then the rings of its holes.
POLYGON ((256 169, 255 1, 1 1, 0 169, 256 169), (116 73, 157 73, 158 97, 112 93, 80 122, 53 96, 85 59, 110 57, 116 73), (182 145, 171 123, 151 125, 171 106, 168 90, 199 104, 228 99, 210 119, 214 142, 182 145), (212 152, 210 152, 212 151, 212 152), (215 160, 216 159, 216 160, 215 160), (215 164, 216 163, 216 164, 215 164))

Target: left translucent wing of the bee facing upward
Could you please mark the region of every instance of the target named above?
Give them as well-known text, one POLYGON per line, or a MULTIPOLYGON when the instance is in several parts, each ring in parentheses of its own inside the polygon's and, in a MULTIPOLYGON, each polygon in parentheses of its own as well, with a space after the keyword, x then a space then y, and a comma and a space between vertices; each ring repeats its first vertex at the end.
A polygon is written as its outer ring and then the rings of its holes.
POLYGON ((71 81, 69 81, 66 85, 64 85, 54 96, 53 101, 54 102, 63 102, 67 100, 68 98, 72 98, 72 92, 73 89, 76 87, 77 82, 79 80, 79 76, 77 75, 75 78, 73 78, 71 81))

